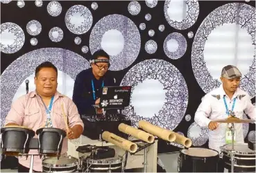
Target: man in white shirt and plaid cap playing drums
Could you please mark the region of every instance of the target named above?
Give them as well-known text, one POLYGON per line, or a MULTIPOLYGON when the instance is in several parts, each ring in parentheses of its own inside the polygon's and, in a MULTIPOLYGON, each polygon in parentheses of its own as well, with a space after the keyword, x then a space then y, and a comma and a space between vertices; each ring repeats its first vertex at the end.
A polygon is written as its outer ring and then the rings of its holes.
MULTIPOLYGON (((220 147, 225 145, 227 123, 214 120, 225 119, 230 115, 243 118, 244 112, 255 120, 255 107, 250 101, 250 95, 239 89, 241 72, 236 66, 223 67, 221 72, 221 86, 207 93, 200 103, 194 120, 201 127, 208 127, 209 148, 221 153, 220 147)), ((234 124, 236 143, 244 143, 243 125, 234 124)))

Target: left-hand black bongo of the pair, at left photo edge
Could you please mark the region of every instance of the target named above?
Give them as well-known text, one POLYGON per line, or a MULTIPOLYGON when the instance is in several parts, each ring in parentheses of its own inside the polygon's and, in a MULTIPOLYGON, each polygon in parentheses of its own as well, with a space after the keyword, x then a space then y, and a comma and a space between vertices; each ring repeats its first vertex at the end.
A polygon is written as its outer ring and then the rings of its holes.
POLYGON ((6 156, 28 154, 29 143, 35 136, 35 131, 22 126, 1 128, 1 152, 6 156))

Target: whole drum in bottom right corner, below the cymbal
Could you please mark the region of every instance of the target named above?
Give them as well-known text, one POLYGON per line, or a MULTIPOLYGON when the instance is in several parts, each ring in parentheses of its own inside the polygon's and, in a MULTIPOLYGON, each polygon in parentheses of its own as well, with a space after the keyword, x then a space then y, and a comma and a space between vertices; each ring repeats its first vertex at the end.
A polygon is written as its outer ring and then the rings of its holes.
MULTIPOLYGON (((230 151, 232 144, 221 147, 224 166, 228 170, 231 170, 230 151)), ((255 151, 249 149, 248 144, 234 144, 234 172, 255 172, 255 156, 255 151)))

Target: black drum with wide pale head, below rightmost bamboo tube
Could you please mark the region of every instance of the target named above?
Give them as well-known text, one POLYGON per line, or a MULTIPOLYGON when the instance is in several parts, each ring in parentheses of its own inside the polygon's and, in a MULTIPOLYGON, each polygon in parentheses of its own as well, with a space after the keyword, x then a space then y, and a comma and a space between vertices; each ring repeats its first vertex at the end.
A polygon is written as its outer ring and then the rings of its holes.
POLYGON ((181 149, 178 172, 218 172, 219 152, 206 148, 181 149))

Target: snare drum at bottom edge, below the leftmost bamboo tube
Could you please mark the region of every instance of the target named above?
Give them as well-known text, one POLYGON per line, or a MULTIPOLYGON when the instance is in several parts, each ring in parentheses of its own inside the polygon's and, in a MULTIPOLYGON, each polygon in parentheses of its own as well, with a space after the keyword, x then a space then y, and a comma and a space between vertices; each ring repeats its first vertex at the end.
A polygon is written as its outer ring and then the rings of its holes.
POLYGON ((121 172, 123 159, 121 156, 112 158, 82 158, 84 172, 121 172))

